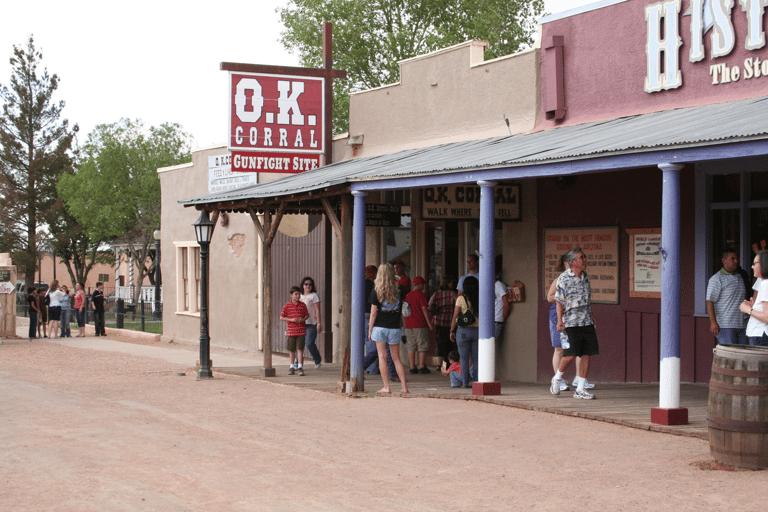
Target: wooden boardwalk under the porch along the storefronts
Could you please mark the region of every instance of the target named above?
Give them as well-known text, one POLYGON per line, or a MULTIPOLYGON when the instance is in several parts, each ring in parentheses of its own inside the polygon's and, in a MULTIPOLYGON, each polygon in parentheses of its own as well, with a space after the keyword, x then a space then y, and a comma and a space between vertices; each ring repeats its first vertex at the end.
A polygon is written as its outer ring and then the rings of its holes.
MULTIPOLYGON (((215 363, 214 363, 215 364, 215 363)), ((264 378, 261 368, 215 368, 215 372, 241 375, 268 382, 288 384, 297 387, 337 393, 340 389, 338 364, 323 364, 316 370, 310 363, 306 376, 288 375, 287 366, 275 366, 277 376, 264 378)), ((401 395, 379 395, 381 397, 435 398, 451 400, 478 400, 488 404, 517 407, 533 411, 564 414, 590 420, 616 423, 632 428, 665 432, 669 434, 709 439, 707 433, 707 400, 709 388, 705 384, 683 384, 680 389, 680 405, 688 409, 688 425, 667 426, 651 423, 651 408, 658 407, 658 384, 603 384, 595 383, 595 400, 576 400, 573 391, 563 391, 559 396, 549 392, 549 383, 530 384, 523 382, 502 382, 501 395, 477 396, 472 390, 451 388, 448 379, 433 370, 429 375, 408 375, 410 393, 401 395)), ((381 377, 366 375, 366 391, 350 396, 371 396, 381 388, 381 377)), ((399 383, 392 383, 392 389, 400 389, 399 383)))

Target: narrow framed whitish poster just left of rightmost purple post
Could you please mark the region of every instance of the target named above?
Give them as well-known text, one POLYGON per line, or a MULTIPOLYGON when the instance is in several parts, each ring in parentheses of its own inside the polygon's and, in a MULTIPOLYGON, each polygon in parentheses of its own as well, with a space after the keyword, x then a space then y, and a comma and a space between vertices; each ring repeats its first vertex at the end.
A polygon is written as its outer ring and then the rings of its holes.
POLYGON ((628 229, 629 296, 661 298, 661 228, 628 229))

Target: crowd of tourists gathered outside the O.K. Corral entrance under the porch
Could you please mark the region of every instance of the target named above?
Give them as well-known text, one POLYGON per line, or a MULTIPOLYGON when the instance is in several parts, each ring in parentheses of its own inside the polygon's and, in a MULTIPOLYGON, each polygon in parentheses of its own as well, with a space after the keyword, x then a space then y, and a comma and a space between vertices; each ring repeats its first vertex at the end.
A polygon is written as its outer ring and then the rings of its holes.
MULTIPOLYGON (((500 262, 499 262, 500 263, 500 262)), ((450 378, 452 387, 472 387, 477 381, 479 258, 467 258, 469 272, 458 283, 451 276, 440 280, 438 290, 427 300, 424 278, 411 282, 405 264, 369 265, 366 277, 366 348, 367 373, 380 373, 384 387, 379 393, 391 393, 390 382, 400 382, 408 393, 406 369, 400 358, 405 343, 411 374, 428 374, 426 359, 430 333, 437 342, 438 370, 450 378)), ((501 340, 504 321, 509 316, 510 299, 501 282, 500 265, 495 286, 496 340, 501 340)))

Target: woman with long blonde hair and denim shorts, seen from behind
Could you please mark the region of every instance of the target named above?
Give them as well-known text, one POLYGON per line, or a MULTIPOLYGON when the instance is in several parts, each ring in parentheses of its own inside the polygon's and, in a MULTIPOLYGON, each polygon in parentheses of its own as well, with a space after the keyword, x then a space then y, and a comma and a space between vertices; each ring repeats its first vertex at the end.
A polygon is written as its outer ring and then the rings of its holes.
MULTIPOLYGON (((376 342, 376 350, 379 353, 379 368, 387 367, 387 346, 390 346, 392 361, 400 378, 400 390, 408 393, 408 384, 405 380, 405 367, 400 360, 400 341, 403 333, 400 329, 402 322, 402 307, 405 294, 395 280, 395 269, 389 263, 379 266, 374 288, 368 302, 371 303, 370 319, 368 321, 368 338, 376 342)), ((384 387, 379 393, 391 393, 389 385, 389 372, 381 372, 381 380, 384 387)))

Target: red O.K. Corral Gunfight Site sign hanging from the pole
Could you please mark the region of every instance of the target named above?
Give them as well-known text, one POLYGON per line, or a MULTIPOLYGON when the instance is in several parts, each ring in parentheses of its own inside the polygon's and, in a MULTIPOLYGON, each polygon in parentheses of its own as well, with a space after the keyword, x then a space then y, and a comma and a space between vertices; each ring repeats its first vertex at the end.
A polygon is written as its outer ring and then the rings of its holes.
MULTIPOLYGON (((262 73, 230 72, 229 150, 233 152, 232 170, 236 169, 234 152, 255 152, 253 156, 277 159, 310 158, 324 151, 322 78, 262 73), (271 155, 271 153, 276 153, 271 155), (270 155, 268 155, 270 154, 270 155)), ((242 153, 241 153, 242 154, 242 153)), ((312 157, 317 160, 319 157, 312 157)), ((262 161, 263 162, 263 161, 262 161)), ((284 162, 283 162, 284 163, 284 162)), ((263 164, 262 164, 263 165, 263 164)), ((263 169, 265 172, 300 172, 263 169)))

